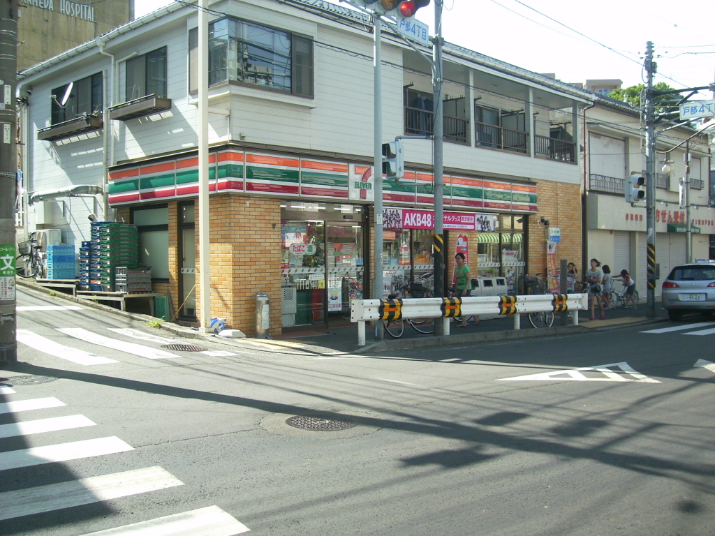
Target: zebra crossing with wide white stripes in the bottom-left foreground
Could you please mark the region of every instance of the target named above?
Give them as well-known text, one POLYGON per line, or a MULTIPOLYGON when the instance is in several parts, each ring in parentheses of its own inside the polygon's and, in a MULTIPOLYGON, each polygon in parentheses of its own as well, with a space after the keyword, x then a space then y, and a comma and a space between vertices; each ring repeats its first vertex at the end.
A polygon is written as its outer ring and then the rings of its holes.
MULTIPOLYGON (((0 415, 13 414, 16 422, 0 425, 0 438, 29 437, 74 428, 91 430, 89 427, 95 425, 92 420, 83 415, 20 420, 19 417, 24 417, 34 410, 59 408, 66 405, 54 397, 9 399, 17 393, 12 387, 7 385, 2 387, 4 389, 0 392, 6 401, 0 403, 0 415)), ((22 467, 111 456, 131 450, 134 450, 133 447, 119 437, 96 437, 58 445, 0 452, 0 480, 5 471, 22 467)), ((157 492, 183 485, 184 482, 164 468, 153 466, 0 492, 0 522, 95 502, 121 500, 123 497, 157 492)), ((28 519, 31 520, 31 518, 28 519)), ((177 512, 166 517, 92 532, 84 536, 193 536, 199 534, 233 536, 248 531, 248 527, 220 507, 210 505, 187 512, 177 512)))

